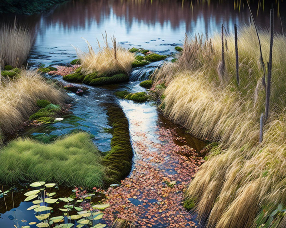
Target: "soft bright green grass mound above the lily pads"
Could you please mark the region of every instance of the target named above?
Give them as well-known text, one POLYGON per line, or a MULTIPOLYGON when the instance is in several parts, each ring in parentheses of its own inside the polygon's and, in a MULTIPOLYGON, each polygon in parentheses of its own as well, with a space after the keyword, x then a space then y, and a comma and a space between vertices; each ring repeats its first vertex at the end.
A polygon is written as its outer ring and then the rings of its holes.
POLYGON ((1 150, 0 160, 3 184, 43 180, 88 188, 103 185, 100 152, 83 132, 51 144, 16 139, 1 150))

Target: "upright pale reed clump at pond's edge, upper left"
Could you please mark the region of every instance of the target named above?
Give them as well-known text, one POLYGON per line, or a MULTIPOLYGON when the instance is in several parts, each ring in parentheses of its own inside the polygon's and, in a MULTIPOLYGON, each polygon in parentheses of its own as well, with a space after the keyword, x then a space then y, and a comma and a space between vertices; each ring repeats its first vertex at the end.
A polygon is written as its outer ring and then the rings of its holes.
POLYGON ((33 32, 14 23, 0 25, 0 64, 21 67, 27 60, 33 45, 33 32))

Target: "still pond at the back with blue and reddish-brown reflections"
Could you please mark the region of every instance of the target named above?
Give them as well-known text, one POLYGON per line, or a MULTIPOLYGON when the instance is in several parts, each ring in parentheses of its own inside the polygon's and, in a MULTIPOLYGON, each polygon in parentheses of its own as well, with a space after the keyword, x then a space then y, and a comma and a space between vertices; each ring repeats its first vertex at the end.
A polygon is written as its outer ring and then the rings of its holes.
MULTIPOLYGON (((71 44, 85 48, 86 43, 81 37, 96 46, 96 37, 101 41, 104 31, 109 35, 115 33, 118 42, 126 48, 142 46, 168 54, 174 51, 173 46, 182 44, 186 32, 210 37, 219 31, 222 23, 230 32, 234 23, 249 24, 245 1, 194 2, 197 1, 74 0, 39 15, 17 18, 37 31, 29 61, 48 65, 66 63, 75 58, 76 52, 71 44)), ((263 5, 260 1, 251 1, 259 27, 269 27, 269 2, 263 5), (257 8, 258 3, 260 7, 257 8)), ((276 12, 283 9, 285 3, 273 2, 276 12)), ((281 14, 282 24, 286 25, 285 13, 281 14)), ((13 21, 14 15, 5 15, 1 20, 13 21)), ((281 32, 278 17, 275 29, 281 32)))

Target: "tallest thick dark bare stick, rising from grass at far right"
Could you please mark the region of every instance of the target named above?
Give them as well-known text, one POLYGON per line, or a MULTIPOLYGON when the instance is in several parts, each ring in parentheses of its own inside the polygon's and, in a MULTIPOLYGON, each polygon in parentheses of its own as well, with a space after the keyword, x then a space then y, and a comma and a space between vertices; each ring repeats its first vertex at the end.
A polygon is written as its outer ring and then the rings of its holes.
POLYGON ((271 74, 272 74, 272 50, 273 50, 273 27, 274 27, 274 9, 270 10, 270 53, 269 53, 269 65, 267 74, 267 90, 266 90, 266 102, 265 102, 265 122, 268 119, 269 113, 269 101, 270 101, 270 87, 271 87, 271 74))

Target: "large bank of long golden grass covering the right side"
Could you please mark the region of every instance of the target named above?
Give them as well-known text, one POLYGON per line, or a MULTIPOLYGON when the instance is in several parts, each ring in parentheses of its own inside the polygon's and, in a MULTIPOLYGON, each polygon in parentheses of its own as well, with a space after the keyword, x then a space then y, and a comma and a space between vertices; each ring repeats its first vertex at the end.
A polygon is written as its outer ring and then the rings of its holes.
MULTIPOLYGON (((259 32, 265 62, 270 34, 259 32)), ((225 37, 225 72, 220 76, 221 35, 208 41, 185 39, 178 61, 154 75, 165 82, 164 113, 197 137, 220 143, 187 190, 206 227, 256 227, 262 208, 271 214, 286 207, 286 40, 276 34, 269 118, 259 144, 260 116, 265 109, 259 44, 254 28, 238 28, 239 85, 234 34, 225 37)), ((153 86, 153 87, 154 87, 153 86)), ((261 224, 260 224, 261 225, 261 224)), ((259 225, 257 225, 258 227, 259 225)))

